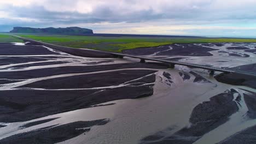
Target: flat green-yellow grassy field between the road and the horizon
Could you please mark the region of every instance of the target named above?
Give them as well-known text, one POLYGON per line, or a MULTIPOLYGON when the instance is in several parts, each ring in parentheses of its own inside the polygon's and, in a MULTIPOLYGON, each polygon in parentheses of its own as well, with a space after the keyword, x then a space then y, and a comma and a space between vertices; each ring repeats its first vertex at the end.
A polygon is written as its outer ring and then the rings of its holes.
POLYGON ((121 52, 125 49, 136 47, 151 47, 174 43, 224 43, 224 42, 252 42, 256 39, 234 38, 187 38, 187 37, 99 37, 99 36, 75 36, 75 35, 32 35, 18 34, 21 37, 30 38, 45 43, 95 49, 103 51, 121 52))

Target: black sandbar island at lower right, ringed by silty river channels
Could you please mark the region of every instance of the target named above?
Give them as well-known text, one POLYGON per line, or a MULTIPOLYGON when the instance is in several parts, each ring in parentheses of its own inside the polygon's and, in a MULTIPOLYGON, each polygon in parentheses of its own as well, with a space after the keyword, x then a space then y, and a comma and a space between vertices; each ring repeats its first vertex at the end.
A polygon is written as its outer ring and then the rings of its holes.
POLYGON ((219 127, 229 117, 238 111, 238 107, 234 99, 234 93, 237 93, 235 89, 232 91, 226 91, 224 93, 215 95, 210 98, 210 101, 205 101, 202 104, 197 105, 191 113, 189 122, 191 127, 183 128, 174 134, 166 135, 166 131, 170 131, 172 128, 160 131, 154 135, 144 137, 141 143, 179 143, 179 144, 191 144, 200 139, 204 134, 219 127))

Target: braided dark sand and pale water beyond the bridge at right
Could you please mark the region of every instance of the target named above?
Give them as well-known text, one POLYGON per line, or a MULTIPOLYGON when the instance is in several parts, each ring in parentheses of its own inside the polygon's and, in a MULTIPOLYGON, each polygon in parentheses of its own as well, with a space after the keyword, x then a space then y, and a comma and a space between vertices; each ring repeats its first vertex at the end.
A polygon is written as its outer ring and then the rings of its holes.
POLYGON ((231 68, 255 63, 255 43, 170 44, 124 50, 123 53, 231 68))

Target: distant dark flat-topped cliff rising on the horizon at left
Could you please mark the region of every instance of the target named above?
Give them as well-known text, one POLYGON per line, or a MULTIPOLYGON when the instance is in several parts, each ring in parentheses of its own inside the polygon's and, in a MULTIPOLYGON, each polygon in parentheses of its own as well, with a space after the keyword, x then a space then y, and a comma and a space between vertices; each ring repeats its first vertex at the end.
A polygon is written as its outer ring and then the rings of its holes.
POLYGON ((67 28, 31 28, 31 27, 14 27, 10 33, 52 33, 52 34, 93 34, 91 29, 80 27, 67 28))

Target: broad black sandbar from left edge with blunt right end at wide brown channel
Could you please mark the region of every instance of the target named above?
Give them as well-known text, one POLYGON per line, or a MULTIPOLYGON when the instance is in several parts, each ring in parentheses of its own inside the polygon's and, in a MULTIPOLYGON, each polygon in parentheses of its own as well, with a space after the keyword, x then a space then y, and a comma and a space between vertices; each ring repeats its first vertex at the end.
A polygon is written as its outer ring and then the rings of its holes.
MULTIPOLYGON (((101 81, 102 77, 98 77, 101 81)), ((152 77, 155 81, 155 77, 152 77)), ((20 122, 66 111, 83 109, 107 101, 136 99, 153 94, 154 85, 75 91, 0 91, 0 122, 20 122)))

